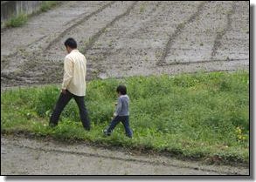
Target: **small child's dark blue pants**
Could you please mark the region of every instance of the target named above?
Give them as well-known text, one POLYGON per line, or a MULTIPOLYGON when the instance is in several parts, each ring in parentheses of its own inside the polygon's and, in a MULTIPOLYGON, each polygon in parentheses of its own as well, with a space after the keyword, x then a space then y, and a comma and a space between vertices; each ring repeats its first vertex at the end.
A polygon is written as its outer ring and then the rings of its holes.
POLYGON ((133 131, 129 127, 129 117, 128 116, 116 116, 109 125, 107 132, 111 133, 114 130, 114 127, 121 121, 122 125, 124 126, 124 129, 126 131, 126 134, 129 138, 132 138, 133 131))

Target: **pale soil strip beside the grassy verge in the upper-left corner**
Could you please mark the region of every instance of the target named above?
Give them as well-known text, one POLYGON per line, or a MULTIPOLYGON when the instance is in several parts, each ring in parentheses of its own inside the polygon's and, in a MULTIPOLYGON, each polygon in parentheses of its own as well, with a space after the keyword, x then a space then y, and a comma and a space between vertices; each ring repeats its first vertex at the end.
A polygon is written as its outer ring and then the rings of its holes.
MULTIPOLYGON (((37 43, 40 38, 45 36, 48 37, 45 41, 51 42, 51 39, 65 30, 66 26, 70 27, 80 16, 83 16, 85 11, 90 13, 94 10, 93 6, 99 6, 100 3, 104 2, 73 1, 61 3, 54 10, 31 17, 29 22, 22 27, 1 30, 1 56, 8 56, 18 49, 24 49, 37 43), (10 42, 11 44, 9 44, 10 42)), ((44 42, 41 46, 44 47, 45 45, 47 43, 44 42)), ((33 48, 35 49, 35 47, 33 48)))

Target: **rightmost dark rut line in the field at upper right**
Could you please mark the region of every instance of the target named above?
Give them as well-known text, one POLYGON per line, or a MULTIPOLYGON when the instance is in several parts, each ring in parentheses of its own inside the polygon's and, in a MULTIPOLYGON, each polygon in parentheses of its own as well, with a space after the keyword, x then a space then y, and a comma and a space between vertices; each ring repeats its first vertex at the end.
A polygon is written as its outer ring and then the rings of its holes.
POLYGON ((220 32, 218 32, 218 34, 214 40, 214 44, 213 44, 212 51, 211 51, 211 58, 210 58, 211 60, 213 60, 217 54, 218 47, 221 45, 222 37, 224 37, 226 32, 228 30, 230 30, 230 27, 232 24, 231 17, 234 13, 235 13, 235 2, 232 2, 232 10, 229 10, 229 12, 227 13, 227 16, 226 16, 226 18, 227 18, 226 26, 225 26, 224 30, 221 30, 220 32))

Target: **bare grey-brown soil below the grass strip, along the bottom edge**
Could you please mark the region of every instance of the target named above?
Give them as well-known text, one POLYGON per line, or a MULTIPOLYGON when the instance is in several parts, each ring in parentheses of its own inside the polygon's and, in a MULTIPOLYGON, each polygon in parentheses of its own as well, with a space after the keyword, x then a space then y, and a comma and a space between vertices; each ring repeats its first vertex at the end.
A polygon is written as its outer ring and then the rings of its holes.
POLYGON ((135 154, 49 139, 1 136, 1 175, 247 175, 244 167, 135 154))

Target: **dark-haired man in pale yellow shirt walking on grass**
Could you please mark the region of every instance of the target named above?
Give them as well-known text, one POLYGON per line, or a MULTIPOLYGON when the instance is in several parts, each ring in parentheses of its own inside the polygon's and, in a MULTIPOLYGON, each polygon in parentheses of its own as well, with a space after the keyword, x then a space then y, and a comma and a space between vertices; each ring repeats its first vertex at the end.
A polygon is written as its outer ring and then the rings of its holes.
POLYGON ((49 125, 58 125, 60 113, 66 104, 74 98, 80 109, 80 119, 85 130, 90 130, 90 121, 85 106, 86 95, 86 57, 77 50, 77 43, 73 38, 65 41, 66 55, 64 60, 64 77, 59 100, 52 112, 49 125))

